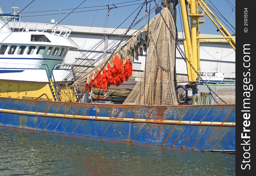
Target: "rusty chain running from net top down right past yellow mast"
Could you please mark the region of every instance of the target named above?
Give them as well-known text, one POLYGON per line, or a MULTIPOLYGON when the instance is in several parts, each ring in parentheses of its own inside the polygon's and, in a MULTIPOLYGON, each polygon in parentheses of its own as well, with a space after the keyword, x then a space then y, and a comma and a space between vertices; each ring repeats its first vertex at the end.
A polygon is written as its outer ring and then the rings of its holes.
MULTIPOLYGON (((159 7, 158 7, 158 5, 157 5, 157 2, 156 2, 155 0, 154 0, 154 2, 155 2, 155 4, 156 4, 156 6, 157 6, 157 9, 159 10, 159 13, 160 13, 160 15, 161 15, 161 17, 162 17, 164 23, 165 23, 165 26, 167 27, 167 29, 170 31, 170 34, 172 35, 171 30, 170 30, 169 26, 167 25, 167 23, 166 23, 166 21, 165 21, 163 15, 162 15, 162 13, 161 13, 161 10, 159 9, 159 7)), ((178 44, 178 41, 174 38, 173 35, 172 35, 172 37, 173 37, 175 43, 177 44, 177 47, 178 47, 177 49, 178 49, 179 54, 181 55, 181 57, 182 57, 184 60, 185 60, 185 59, 187 60, 187 62, 189 63, 190 67, 192 67, 192 69, 195 71, 195 73, 197 74, 197 76, 198 76, 198 77, 202 80, 202 82, 207 86, 207 88, 209 89, 210 93, 212 92, 212 93, 215 94, 215 96, 218 97, 223 103, 227 104, 227 103, 226 103, 224 100, 222 100, 222 99, 207 85, 207 83, 202 79, 202 77, 200 76, 200 74, 195 70, 195 68, 193 67, 193 65, 189 62, 188 58, 186 57, 186 55, 184 54, 184 52, 183 52, 182 49, 180 48, 180 46, 179 46, 179 44, 178 44)), ((214 101, 215 101, 217 104, 219 104, 219 103, 216 101, 216 99, 213 97, 212 93, 211 93, 212 98, 214 99, 214 101)))

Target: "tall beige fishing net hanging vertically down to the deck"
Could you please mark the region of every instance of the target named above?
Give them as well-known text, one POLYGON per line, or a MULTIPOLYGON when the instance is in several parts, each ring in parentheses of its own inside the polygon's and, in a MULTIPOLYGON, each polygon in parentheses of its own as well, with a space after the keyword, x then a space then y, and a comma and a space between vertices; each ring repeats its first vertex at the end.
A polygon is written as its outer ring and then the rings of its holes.
POLYGON ((171 33, 158 13, 149 31, 146 68, 123 104, 178 104, 174 87, 175 25, 167 8, 161 13, 171 33))

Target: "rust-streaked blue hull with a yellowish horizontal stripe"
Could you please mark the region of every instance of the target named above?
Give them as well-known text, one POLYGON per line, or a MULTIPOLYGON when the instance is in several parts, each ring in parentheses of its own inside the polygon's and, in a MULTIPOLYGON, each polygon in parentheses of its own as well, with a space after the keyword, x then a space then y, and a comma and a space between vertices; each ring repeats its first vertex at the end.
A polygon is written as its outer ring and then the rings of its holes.
POLYGON ((212 151, 235 151, 235 105, 142 106, 0 98, 0 125, 212 151))

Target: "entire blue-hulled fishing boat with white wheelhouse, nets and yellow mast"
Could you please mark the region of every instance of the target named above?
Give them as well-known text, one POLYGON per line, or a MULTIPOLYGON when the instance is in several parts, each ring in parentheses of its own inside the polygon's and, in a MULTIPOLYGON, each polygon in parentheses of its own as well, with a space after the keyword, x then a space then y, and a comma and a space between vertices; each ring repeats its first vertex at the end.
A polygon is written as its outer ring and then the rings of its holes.
MULTIPOLYGON (((120 45, 121 40, 106 60, 79 79, 75 78, 73 65, 61 64, 67 51, 77 48, 68 39, 71 29, 19 21, 9 26, 6 18, 11 16, 18 20, 19 15, 1 14, 0 125, 194 150, 235 152, 235 104, 225 104, 200 76, 197 48, 199 40, 204 38, 198 36, 198 25, 204 22, 205 16, 212 14, 203 0, 180 0, 186 40, 185 53, 179 51, 187 63, 189 84, 175 87, 175 62, 171 59, 175 59, 175 48, 179 48, 173 20, 177 2, 162 1, 156 3, 155 9, 149 6, 148 17, 154 10, 156 16, 148 20, 127 41, 128 44, 120 45), (105 89, 108 83, 120 84, 127 80, 131 76, 132 62, 143 51, 147 52, 145 70, 124 104, 85 103, 92 95, 91 87, 105 89), (195 96, 200 81, 222 104, 192 105, 178 101, 175 90, 190 88, 195 96), (85 85, 84 91, 79 89, 80 84, 85 85)), ((149 3, 151 1, 145 1, 142 8, 149 3)), ((221 39, 235 49, 235 40, 217 22, 215 26, 222 29, 221 39)))

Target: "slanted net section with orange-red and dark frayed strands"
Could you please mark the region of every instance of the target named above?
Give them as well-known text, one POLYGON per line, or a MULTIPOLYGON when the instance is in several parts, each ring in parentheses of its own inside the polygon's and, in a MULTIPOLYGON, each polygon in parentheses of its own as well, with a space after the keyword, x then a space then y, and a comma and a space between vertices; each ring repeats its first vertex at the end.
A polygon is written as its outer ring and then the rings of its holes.
MULTIPOLYGON (((151 26, 150 25, 151 23, 153 23, 153 20, 149 22, 149 26, 151 26)), ((134 59, 138 60, 139 56, 142 56, 143 51, 144 52, 147 51, 148 43, 149 43, 149 36, 147 31, 147 25, 145 25, 134 36, 132 36, 132 38, 130 38, 126 43, 124 43, 121 47, 119 47, 114 52, 113 57, 111 57, 111 55, 108 56, 105 60, 100 62, 91 71, 86 73, 83 77, 79 78, 76 83, 77 84, 85 83, 85 85, 87 86, 89 85, 89 83, 93 82, 92 86, 94 88, 100 88, 99 86, 102 86, 105 89, 106 88, 105 86, 107 84, 113 83, 113 79, 115 79, 114 77, 120 77, 120 75, 122 74, 120 72, 124 71, 127 66, 129 68, 129 71, 124 73, 124 76, 121 75, 121 77, 129 78, 131 76, 131 74, 129 73, 130 71, 132 71, 132 68, 130 68, 129 65, 134 62, 134 59), (122 67, 122 69, 120 67, 122 67), (118 73, 115 74, 112 71, 118 72, 118 73), (99 72, 101 73, 98 74, 99 72), (111 73, 109 74, 109 72, 111 73), (103 77, 108 77, 108 78, 101 79, 102 77, 101 75, 104 75, 103 77), (111 77, 109 75, 111 75, 111 77), (102 81, 105 81, 105 82, 103 83, 102 81), (95 85, 95 82, 97 82, 97 85, 95 85)), ((123 80, 120 80, 119 83, 122 83, 123 80)), ((116 86, 118 85, 119 84, 116 84, 116 86)))

